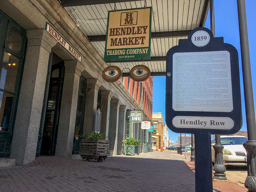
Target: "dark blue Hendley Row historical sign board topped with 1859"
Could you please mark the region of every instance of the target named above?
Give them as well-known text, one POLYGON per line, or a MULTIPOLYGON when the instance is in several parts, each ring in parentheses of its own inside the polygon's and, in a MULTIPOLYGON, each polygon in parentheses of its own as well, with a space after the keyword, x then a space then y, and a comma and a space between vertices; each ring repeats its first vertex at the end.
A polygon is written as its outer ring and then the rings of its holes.
POLYGON ((242 127, 238 53, 205 27, 166 55, 166 124, 177 133, 234 134, 242 127))

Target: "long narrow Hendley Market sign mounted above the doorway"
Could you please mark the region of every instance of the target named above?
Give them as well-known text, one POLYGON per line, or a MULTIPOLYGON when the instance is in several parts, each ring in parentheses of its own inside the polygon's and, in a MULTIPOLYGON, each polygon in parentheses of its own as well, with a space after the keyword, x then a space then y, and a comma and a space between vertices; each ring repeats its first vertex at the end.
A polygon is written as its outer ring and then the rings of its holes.
POLYGON ((55 29, 53 29, 53 27, 51 27, 51 26, 49 25, 49 23, 46 23, 45 30, 46 30, 48 33, 50 33, 51 36, 53 36, 53 37, 58 41, 58 43, 59 43, 62 47, 64 47, 73 57, 75 57, 78 61, 81 62, 81 55, 79 55, 79 54, 77 53, 77 51, 75 51, 75 50, 73 49, 73 47, 71 47, 71 46, 69 45, 69 43, 67 43, 66 40, 65 40, 63 37, 61 37, 61 35, 59 35, 59 34, 57 33, 57 31, 55 31, 55 29))

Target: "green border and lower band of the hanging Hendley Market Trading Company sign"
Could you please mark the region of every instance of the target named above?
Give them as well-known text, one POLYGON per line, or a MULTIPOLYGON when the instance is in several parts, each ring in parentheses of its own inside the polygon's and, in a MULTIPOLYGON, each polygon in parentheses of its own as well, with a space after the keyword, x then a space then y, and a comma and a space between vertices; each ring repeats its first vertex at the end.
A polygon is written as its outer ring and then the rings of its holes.
MULTIPOLYGON (((133 8, 133 9, 122 9, 122 10, 116 10, 116 11, 129 11, 129 10, 135 10, 135 9, 144 9, 144 7, 141 8, 133 8)), ((114 12, 114 10, 112 11, 108 11, 107 14, 107 31, 106 31, 106 41, 105 41, 105 53, 104 53, 104 61, 106 62, 110 62, 110 61, 126 61, 126 60, 142 60, 143 59, 150 59, 150 53, 151 53, 151 18, 152 18, 152 7, 146 7, 146 9, 150 9, 150 17, 149 17, 149 46, 148 47, 135 47, 135 48, 122 48, 122 49, 107 49, 107 34, 109 31, 109 13, 110 12, 114 12), (107 55, 107 51, 109 50, 128 50, 128 49, 147 49, 148 51, 147 53, 141 53, 141 54, 134 54, 134 57, 130 57, 130 58, 118 58, 120 55, 107 55)), ((133 54, 131 54, 133 55, 133 54)), ((128 56, 128 54, 125 54, 123 56, 128 56)))

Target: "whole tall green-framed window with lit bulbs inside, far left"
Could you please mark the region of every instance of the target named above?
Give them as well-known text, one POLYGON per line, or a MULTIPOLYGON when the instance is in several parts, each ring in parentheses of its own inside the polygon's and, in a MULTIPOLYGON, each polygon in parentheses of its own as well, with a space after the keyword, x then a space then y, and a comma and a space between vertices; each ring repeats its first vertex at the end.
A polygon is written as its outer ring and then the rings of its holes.
POLYGON ((26 30, 0 10, 0 157, 8 157, 26 51, 26 30))

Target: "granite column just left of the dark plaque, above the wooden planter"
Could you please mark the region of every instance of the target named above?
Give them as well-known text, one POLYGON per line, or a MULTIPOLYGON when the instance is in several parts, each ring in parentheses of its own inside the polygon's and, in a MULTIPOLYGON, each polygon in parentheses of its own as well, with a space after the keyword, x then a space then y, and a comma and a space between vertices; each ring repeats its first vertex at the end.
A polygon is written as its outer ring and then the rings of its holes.
POLYGON ((91 133, 95 127, 95 118, 97 111, 97 98, 99 87, 102 82, 99 79, 86 79, 87 92, 85 99, 85 116, 83 124, 83 133, 91 133))

